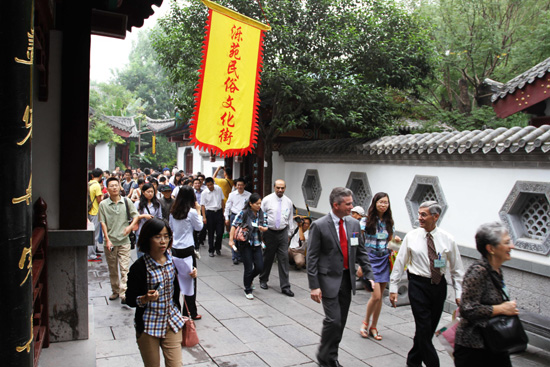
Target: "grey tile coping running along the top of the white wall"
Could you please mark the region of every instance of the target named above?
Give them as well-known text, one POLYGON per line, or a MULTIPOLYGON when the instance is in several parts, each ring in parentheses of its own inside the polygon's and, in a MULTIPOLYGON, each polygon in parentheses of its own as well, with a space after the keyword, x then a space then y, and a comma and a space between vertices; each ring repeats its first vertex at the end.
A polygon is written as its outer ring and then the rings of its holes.
POLYGON ((311 155, 397 155, 397 154, 487 154, 494 151, 531 153, 550 151, 550 125, 499 127, 472 131, 447 131, 366 138, 299 141, 283 145, 279 152, 289 156, 311 155))

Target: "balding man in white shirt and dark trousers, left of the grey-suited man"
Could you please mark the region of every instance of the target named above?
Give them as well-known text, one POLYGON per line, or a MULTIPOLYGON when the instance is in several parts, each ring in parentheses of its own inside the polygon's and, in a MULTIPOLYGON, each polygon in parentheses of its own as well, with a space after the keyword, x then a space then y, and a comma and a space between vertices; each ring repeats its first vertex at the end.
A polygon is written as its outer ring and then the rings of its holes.
POLYGON ((275 181, 273 193, 262 200, 262 211, 267 214, 268 230, 264 233, 264 270, 260 275, 260 287, 268 289, 267 282, 271 267, 277 255, 279 264, 279 282, 281 292, 289 297, 294 297, 290 290, 288 279, 288 239, 292 234, 292 201, 285 196, 286 183, 283 180, 275 181))

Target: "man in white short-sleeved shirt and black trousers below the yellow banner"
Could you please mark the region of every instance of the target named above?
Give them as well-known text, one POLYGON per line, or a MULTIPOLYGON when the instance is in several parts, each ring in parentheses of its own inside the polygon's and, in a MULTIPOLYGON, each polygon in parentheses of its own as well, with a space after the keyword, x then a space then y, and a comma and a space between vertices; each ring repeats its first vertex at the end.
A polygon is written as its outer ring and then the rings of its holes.
POLYGON ((212 177, 208 177, 205 182, 207 190, 201 194, 201 211, 208 231, 208 253, 210 257, 214 257, 214 251, 218 255, 222 254, 224 196, 222 189, 214 185, 212 177))

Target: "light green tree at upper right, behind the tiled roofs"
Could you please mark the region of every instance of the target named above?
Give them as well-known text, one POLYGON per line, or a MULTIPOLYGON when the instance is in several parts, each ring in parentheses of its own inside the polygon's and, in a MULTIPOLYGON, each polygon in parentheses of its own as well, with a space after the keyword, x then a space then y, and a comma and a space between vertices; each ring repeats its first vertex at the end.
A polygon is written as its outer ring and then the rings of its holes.
POLYGON ((426 100, 440 111, 468 115, 490 105, 486 78, 506 82, 550 56, 548 0, 437 0, 416 5, 434 23, 437 57, 427 89, 431 98, 426 100))

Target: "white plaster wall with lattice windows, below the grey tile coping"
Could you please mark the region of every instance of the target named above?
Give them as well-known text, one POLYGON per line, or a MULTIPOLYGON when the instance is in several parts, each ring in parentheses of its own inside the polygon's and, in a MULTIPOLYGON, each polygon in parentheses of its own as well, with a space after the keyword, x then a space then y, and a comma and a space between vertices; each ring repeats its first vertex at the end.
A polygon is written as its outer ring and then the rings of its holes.
MULTIPOLYGON (((327 213, 328 197, 336 186, 345 186, 350 172, 366 172, 371 192, 387 192, 398 231, 412 229, 405 205, 405 196, 415 175, 437 176, 447 200, 447 212, 440 226, 453 234, 463 246, 475 248, 477 227, 499 220, 498 212, 516 181, 550 182, 550 170, 472 167, 421 167, 389 164, 284 163, 286 194, 299 208, 305 208, 302 181, 307 169, 317 169, 322 192, 313 211, 327 213)), ((367 208, 365 208, 366 210, 367 208)), ((550 265, 550 257, 514 251, 518 259, 550 265)))

